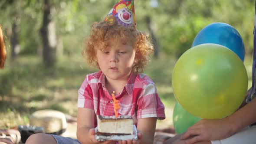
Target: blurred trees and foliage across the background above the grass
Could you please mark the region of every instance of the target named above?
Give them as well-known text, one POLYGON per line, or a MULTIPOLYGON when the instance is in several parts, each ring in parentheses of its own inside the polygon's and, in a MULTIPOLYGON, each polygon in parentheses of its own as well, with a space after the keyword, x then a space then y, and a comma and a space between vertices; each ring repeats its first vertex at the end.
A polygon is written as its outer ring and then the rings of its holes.
MULTIPOLYGON (((56 57, 80 51, 94 21, 101 21, 115 0, 2 0, 0 23, 11 56, 33 54, 54 65, 56 57)), ((254 0, 135 1, 138 29, 151 35, 159 52, 179 58, 204 26, 228 23, 252 52, 254 0)))

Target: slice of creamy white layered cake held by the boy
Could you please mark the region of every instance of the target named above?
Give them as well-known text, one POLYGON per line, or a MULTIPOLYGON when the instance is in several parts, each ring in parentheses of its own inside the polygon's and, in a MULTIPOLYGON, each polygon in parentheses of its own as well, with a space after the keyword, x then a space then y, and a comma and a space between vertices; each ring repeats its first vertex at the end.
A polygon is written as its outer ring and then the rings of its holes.
POLYGON ((137 139, 137 130, 131 116, 121 115, 101 116, 97 115, 98 126, 96 139, 102 140, 128 140, 137 139))

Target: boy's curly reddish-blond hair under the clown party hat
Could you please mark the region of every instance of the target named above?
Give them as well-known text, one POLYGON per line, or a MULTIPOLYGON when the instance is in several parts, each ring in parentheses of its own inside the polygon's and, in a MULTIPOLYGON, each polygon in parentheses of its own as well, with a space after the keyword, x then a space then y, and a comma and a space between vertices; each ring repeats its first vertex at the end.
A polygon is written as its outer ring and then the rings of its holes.
POLYGON ((82 55, 87 56, 87 62, 91 65, 99 65, 96 59, 97 49, 104 49, 108 46, 109 39, 118 37, 123 43, 131 41, 136 55, 137 60, 133 67, 132 72, 138 73, 143 72, 144 66, 147 64, 148 56, 154 52, 153 46, 149 41, 149 36, 146 33, 138 31, 135 26, 125 27, 114 21, 107 22, 103 21, 100 23, 93 23, 91 28, 92 32, 88 39, 86 39, 86 46, 82 50, 82 55))

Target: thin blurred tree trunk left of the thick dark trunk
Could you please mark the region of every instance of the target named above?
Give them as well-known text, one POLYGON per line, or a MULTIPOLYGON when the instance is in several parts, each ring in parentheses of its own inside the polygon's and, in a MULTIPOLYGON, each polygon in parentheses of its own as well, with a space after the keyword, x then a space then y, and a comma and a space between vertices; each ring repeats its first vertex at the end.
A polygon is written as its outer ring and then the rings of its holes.
POLYGON ((12 59, 15 59, 20 53, 20 45, 18 39, 18 26, 16 20, 13 21, 12 24, 12 36, 11 36, 11 48, 12 48, 12 59))

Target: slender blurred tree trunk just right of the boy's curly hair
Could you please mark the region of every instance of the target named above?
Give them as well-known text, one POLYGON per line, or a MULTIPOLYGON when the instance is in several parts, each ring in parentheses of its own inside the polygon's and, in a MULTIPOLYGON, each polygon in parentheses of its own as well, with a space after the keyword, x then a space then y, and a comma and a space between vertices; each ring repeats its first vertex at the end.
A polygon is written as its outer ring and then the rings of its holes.
POLYGON ((152 37, 152 44, 154 46, 154 58, 158 58, 159 56, 159 46, 158 46, 158 43, 157 43, 157 38, 155 36, 155 28, 153 26, 153 23, 151 21, 151 18, 149 16, 146 16, 146 23, 147 23, 147 26, 148 26, 148 30, 149 30, 149 33, 152 37))

